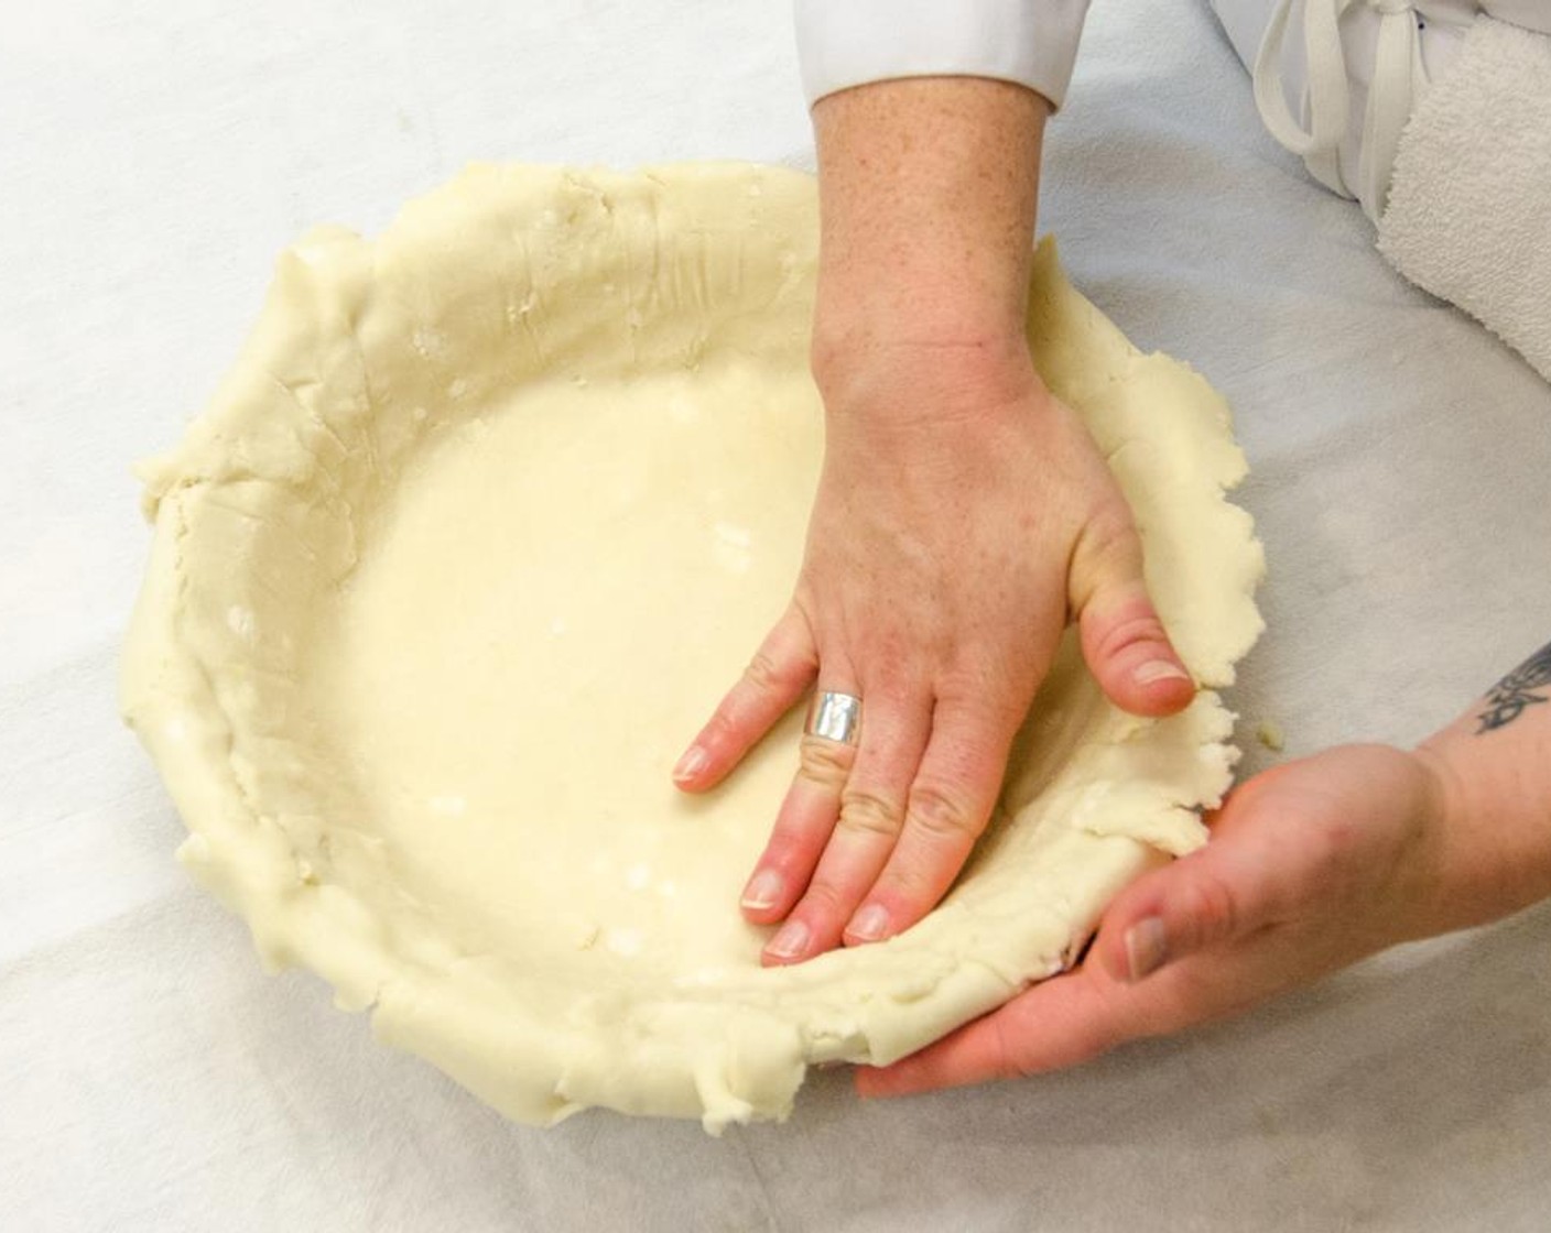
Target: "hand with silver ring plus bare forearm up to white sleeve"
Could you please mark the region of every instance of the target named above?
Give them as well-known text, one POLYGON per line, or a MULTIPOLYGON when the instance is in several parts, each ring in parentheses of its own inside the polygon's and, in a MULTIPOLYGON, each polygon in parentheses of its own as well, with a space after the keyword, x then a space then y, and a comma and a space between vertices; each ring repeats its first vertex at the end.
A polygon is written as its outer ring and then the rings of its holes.
POLYGON ((1124 707, 1194 692, 1146 599, 1131 513, 1024 340, 1048 104, 920 78, 814 107, 814 377, 825 461, 797 589, 675 769, 720 782, 817 681, 859 746, 807 738, 744 915, 766 963, 890 937, 941 898, 1069 614, 1124 707))

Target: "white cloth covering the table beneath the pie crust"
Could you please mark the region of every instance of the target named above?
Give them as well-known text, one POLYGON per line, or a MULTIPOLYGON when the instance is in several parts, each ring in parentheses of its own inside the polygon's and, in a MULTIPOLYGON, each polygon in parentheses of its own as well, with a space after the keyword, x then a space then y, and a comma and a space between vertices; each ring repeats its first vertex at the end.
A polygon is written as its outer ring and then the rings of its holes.
MULTIPOLYGON (((1183 1039, 785 1126, 503 1123, 259 971, 113 699, 166 448, 306 226, 470 158, 808 164, 760 0, 12 5, 0 37, 0 1230, 1543 1230, 1542 907, 1183 1039)), ((1551 636, 1551 389, 1263 133, 1205 6, 1095 5, 1042 225, 1233 402, 1287 755, 1410 741, 1551 636)), ((735 889, 729 889, 732 893, 735 889)))

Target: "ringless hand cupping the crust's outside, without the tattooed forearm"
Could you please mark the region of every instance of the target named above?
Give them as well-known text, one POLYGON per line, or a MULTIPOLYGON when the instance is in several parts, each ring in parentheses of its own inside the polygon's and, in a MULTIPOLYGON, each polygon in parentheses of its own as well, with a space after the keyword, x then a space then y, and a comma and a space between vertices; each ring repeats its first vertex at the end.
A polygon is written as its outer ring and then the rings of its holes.
MULTIPOLYGON (((1236 1014, 1385 946, 1494 915, 1436 754, 1343 746, 1238 788, 1211 842, 1121 892, 1087 958, 883 1069, 867 1097, 1033 1075, 1236 1014)), ((1525 865, 1531 869, 1532 865, 1525 865)), ((1543 867, 1543 858, 1542 858, 1543 867)), ((1522 900, 1497 900, 1495 910, 1522 900)))

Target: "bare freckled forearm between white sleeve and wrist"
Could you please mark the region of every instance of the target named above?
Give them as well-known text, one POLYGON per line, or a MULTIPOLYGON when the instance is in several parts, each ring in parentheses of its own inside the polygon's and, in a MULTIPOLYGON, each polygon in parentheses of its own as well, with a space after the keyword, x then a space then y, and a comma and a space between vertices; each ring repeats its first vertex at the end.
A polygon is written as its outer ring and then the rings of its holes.
POLYGON ((820 99, 820 380, 879 349, 1002 361, 1022 346, 1050 104, 982 78, 873 82, 820 99))

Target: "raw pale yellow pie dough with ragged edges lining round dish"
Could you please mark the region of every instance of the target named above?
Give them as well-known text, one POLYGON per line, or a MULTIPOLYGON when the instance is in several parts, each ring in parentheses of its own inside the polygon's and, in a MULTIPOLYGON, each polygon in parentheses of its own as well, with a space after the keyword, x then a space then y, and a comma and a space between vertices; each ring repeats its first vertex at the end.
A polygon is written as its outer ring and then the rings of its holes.
MULTIPOLYGON (((785 1117, 1061 971, 1200 844, 1231 715, 1111 707, 1072 637, 1003 806, 904 935, 762 969, 737 895, 789 717, 709 799, 673 757, 796 575, 822 447, 808 177, 475 168, 374 243, 285 253, 211 408, 147 470, 124 709, 178 856, 375 1034, 509 1117, 785 1117)), ((1135 509, 1208 687, 1261 630, 1228 411, 1142 355, 1047 242, 1028 321, 1135 509)))

